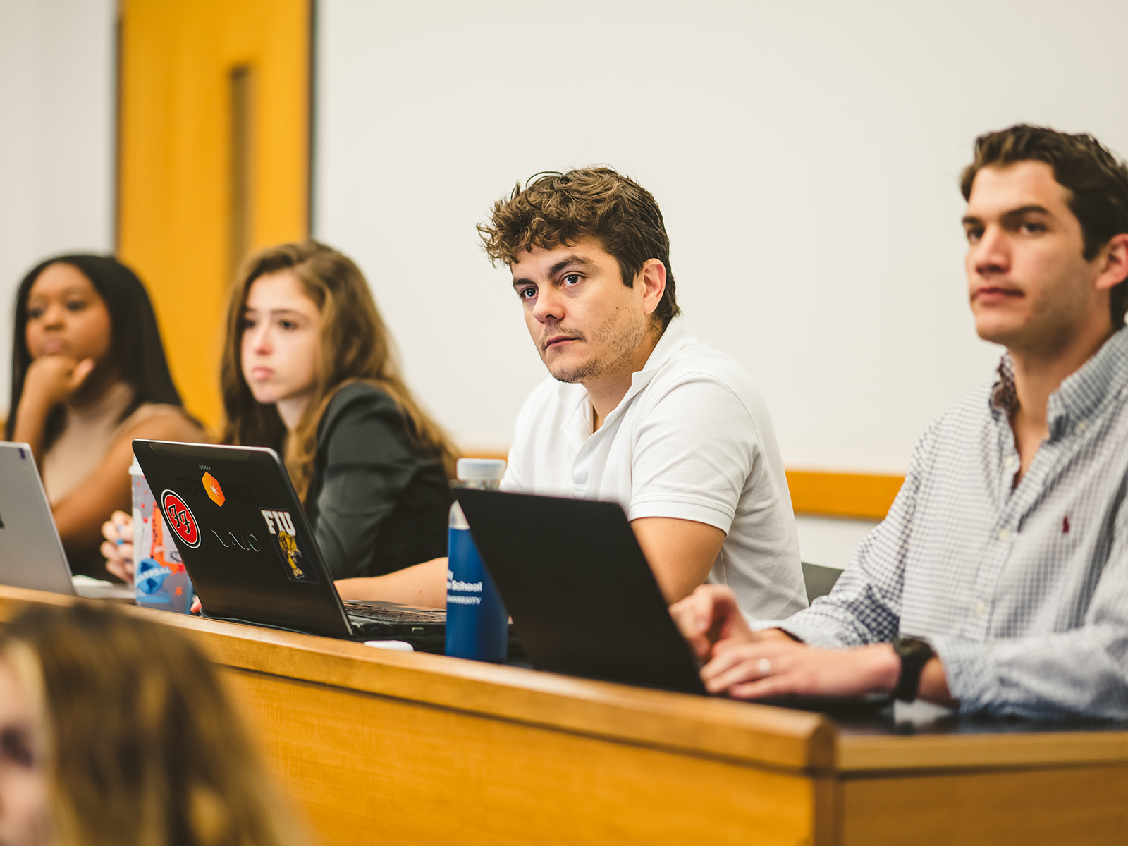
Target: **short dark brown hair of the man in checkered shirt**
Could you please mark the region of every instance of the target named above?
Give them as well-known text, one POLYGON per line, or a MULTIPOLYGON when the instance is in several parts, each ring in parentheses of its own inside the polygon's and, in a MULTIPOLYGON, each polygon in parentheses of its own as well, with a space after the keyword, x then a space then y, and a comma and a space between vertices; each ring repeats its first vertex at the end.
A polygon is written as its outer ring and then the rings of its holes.
MULTIPOLYGON (((1069 134, 1046 126, 1019 124, 976 139, 975 159, 960 175, 963 199, 971 197, 976 174, 985 167, 1042 161, 1069 192, 1069 211, 1081 223, 1082 255, 1091 262, 1114 235, 1128 232, 1128 166, 1089 134, 1069 134)), ((1128 280, 1109 291, 1113 328, 1125 324, 1128 280)))

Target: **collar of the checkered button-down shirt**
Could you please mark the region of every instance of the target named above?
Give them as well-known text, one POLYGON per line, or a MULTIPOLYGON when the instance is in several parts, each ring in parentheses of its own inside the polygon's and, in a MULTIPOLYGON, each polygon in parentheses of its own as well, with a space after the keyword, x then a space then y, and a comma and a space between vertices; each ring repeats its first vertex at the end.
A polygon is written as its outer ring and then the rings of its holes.
MULTIPOLYGON (((1067 376, 1050 394, 1046 423, 1050 437, 1068 431, 1068 424, 1087 420, 1102 411, 1105 402, 1128 381, 1128 326, 1118 329, 1093 356, 1067 376)), ((1008 414, 1017 403, 1014 387, 1014 361, 1005 353, 998 363, 998 378, 990 393, 990 409, 997 417, 1008 414)))

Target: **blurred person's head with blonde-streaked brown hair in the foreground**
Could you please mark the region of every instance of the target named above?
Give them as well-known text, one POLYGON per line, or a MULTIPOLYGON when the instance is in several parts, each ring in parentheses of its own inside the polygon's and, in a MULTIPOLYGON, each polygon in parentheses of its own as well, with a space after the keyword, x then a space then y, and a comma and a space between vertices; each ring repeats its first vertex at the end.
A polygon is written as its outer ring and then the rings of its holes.
POLYGON ((0 637, 0 844, 298 846, 212 667, 114 608, 20 615, 0 637))

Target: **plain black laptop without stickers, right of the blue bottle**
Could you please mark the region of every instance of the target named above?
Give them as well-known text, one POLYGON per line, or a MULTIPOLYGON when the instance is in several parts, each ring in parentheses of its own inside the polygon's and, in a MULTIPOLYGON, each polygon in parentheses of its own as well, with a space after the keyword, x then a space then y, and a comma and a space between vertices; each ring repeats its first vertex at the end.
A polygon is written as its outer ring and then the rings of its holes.
POLYGON ((705 693, 617 503, 469 488, 455 496, 535 668, 705 693))

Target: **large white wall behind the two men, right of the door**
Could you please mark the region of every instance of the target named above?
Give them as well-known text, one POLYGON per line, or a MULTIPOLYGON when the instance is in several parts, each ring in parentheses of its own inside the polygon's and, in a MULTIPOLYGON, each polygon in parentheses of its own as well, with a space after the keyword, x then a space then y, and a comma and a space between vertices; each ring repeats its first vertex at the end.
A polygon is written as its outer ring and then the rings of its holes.
POLYGON ((957 177, 1019 121, 1128 153, 1128 5, 320 0, 315 214, 412 385, 505 446, 544 369, 474 223, 538 170, 656 196, 678 299, 739 358, 793 467, 904 470, 992 374, 957 177))

